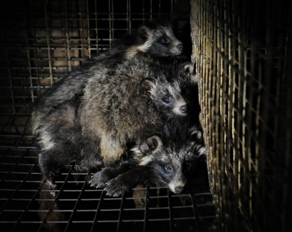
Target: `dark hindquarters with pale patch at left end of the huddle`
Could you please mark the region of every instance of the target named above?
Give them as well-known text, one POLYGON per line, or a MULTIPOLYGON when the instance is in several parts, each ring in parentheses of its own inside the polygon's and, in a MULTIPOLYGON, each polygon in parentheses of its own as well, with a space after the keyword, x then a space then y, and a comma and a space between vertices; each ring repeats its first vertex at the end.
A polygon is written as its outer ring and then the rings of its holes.
POLYGON ((102 166, 100 150, 90 150, 86 145, 86 140, 81 137, 81 125, 77 115, 80 99, 68 101, 49 111, 40 122, 37 140, 41 148, 38 154, 39 167, 46 180, 54 182, 56 173, 70 164, 82 164, 90 168, 102 166), (83 154, 88 155, 88 159, 83 160, 83 154), (91 158, 91 156, 95 158, 91 158), (97 157, 97 158, 96 158, 97 157))

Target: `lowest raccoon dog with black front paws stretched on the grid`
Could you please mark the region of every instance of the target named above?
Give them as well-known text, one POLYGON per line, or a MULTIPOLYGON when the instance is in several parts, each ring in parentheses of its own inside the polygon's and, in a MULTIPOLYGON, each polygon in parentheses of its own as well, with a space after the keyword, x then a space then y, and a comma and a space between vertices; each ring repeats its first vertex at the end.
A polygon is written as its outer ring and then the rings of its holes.
POLYGON ((205 160, 201 130, 174 120, 164 124, 160 134, 151 135, 131 149, 129 159, 117 168, 95 173, 90 183, 104 187, 109 196, 119 196, 137 184, 168 186, 180 194, 196 163, 205 160))

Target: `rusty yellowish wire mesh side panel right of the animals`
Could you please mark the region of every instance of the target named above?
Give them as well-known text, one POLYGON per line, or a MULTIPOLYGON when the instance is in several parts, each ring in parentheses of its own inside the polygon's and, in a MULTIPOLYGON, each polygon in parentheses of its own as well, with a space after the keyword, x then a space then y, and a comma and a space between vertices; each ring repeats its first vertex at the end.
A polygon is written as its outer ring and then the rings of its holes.
POLYGON ((192 0, 200 119, 225 231, 291 230, 291 12, 290 1, 192 0))

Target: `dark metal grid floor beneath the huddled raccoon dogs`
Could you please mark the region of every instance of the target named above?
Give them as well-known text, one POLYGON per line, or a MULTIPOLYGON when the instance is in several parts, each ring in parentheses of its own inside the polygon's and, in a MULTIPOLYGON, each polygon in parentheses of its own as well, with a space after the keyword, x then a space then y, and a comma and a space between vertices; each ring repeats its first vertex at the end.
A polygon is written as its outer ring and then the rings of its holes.
POLYGON ((137 187, 112 198, 88 185, 92 173, 69 166, 61 170, 53 197, 38 168, 33 137, 25 132, 29 118, 11 116, 1 125, 3 231, 218 231, 206 167, 199 167, 181 195, 170 194, 167 187, 137 187))

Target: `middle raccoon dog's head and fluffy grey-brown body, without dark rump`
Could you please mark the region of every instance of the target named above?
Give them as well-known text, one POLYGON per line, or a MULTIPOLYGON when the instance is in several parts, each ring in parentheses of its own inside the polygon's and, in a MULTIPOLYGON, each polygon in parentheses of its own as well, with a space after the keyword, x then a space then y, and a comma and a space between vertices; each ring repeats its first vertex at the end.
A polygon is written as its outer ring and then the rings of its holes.
POLYGON ((82 135, 96 146, 100 139, 106 165, 119 160, 127 150, 127 142, 140 133, 161 126, 169 118, 186 116, 186 101, 181 96, 186 78, 180 64, 166 65, 151 57, 97 72, 84 91, 82 135))

